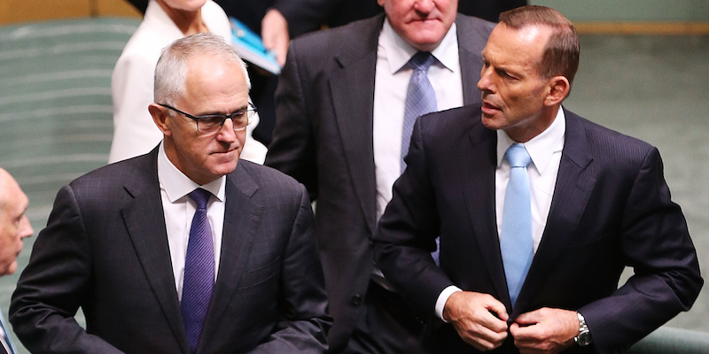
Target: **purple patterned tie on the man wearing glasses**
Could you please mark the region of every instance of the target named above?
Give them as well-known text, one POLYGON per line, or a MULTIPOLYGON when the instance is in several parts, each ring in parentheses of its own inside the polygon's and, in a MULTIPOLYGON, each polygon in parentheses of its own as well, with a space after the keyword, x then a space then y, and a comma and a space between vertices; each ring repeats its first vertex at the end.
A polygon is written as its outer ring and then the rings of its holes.
POLYGON ((190 227, 190 241, 184 259, 182 312, 184 330, 192 353, 197 352, 209 300, 214 287, 214 244, 212 227, 206 218, 206 202, 212 193, 195 189, 190 197, 197 204, 190 227))

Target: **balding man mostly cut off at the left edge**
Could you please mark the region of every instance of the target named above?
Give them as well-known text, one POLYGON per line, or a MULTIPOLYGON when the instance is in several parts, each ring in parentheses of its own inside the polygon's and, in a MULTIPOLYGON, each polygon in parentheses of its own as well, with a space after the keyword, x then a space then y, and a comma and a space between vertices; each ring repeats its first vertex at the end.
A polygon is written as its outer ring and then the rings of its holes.
MULTIPOLYGON (((27 204, 27 196, 17 181, 0 168, 0 276, 15 273, 22 240, 35 233, 25 215, 27 204)), ((17 353, 9 331, 0 314, 0 353, 17 353)))

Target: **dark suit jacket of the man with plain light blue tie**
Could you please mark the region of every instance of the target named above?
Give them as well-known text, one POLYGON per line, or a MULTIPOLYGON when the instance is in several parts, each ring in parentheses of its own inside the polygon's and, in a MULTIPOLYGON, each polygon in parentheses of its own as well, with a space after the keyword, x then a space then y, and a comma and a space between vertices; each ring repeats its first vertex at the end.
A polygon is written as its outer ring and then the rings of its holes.
MULTIPOLYGON (((658 150, 565 111, 564 150, 549 218, 514 307, 495 225, 496 134, 473 105, 418 119, 408 168, 379 221, 378 266, 421 316, 449 285, 491 294, 510 319, 541 307, 583 314, 594 343, 622 350, 694 303, 702 279, 658 150), (440 235, 440 267, 428 252, 440 235), (625 266, 635 275, 618 289, 625 266)), ((475 353, 444 325, 442 353, 475 353)), ((495 353, 517 353, 508 337, 495 353)))

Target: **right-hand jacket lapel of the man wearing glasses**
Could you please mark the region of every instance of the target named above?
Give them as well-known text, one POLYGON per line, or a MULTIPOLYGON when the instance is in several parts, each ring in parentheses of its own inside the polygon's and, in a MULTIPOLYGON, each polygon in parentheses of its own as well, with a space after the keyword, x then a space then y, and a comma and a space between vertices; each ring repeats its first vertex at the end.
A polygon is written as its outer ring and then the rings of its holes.
POLYGON ((214 283, 209 312, 202 330, 199 352, 210 352, 208 345, 219 335, 222 315, 230 304, 230 299, 238 288, 249 259, 253 239, 261 225, 263 206, 255 204, 251 198, 259 189, 249 173, 239 163, 234 173, 227 176, 226 205, 224 207, 224 227, 222 230, 222 257, 219 273, 214 283))

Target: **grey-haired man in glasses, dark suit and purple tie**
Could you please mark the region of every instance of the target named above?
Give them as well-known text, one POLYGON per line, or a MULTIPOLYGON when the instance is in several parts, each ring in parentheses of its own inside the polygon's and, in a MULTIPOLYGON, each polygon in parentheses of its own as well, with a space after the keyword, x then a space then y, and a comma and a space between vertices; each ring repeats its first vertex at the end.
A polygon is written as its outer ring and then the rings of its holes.
POLYGON ((322 353, 307 192, 238 160, 244 63, 216 35, 175 41, 149 109, 158 147, 59 190, 12 296, 19 339, 34 353, 322 353))

